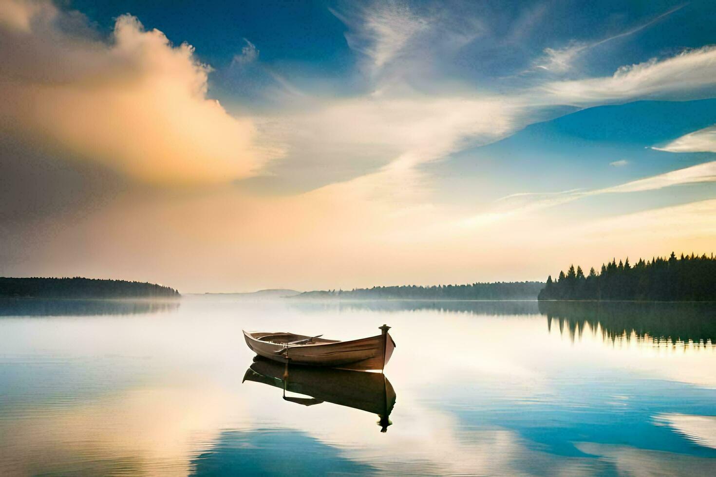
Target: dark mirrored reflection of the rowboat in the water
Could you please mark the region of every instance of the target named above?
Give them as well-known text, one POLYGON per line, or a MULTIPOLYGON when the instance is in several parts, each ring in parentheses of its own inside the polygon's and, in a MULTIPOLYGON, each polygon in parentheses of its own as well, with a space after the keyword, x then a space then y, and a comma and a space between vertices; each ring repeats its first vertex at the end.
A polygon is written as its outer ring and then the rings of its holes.
POLYGON ((334 403, 348 408, 377 414, 381 432, 387 431, 388 420, 395 405, 395 390, 382 373, 316 368, 314 366, 282 365, 256 358, 243 376, 244 381, 272 385, 284 390, 284 400, 301 405, 334 403), (311 396, 286 396, 286 391, 311 396))

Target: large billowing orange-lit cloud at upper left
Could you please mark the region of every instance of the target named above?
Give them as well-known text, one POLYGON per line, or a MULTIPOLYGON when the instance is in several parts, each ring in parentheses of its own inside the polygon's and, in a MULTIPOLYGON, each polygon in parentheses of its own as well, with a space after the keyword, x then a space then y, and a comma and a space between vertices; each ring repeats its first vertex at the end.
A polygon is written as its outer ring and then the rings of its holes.
POLYGON ((49 2, 4 2, 3 134, 154 184, 228 182, 269 157, 251 119, 208 99, 211 68, 192 46, 173 46, 130 15, 108 41, 95 36, 49 2))

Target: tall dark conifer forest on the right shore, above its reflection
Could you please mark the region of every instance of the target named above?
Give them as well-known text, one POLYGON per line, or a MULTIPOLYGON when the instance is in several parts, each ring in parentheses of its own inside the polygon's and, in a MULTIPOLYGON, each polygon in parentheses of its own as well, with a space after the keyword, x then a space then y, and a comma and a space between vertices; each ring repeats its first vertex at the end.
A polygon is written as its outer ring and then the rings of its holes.
POLYGON ((681 255, 639 259, 633 266, 629 258, 612 260, 594 267, 585 275, 581 267, 559 272, 557 280, 547 277, 539 300, 716 300, 716 258, 711 255, 681 255))

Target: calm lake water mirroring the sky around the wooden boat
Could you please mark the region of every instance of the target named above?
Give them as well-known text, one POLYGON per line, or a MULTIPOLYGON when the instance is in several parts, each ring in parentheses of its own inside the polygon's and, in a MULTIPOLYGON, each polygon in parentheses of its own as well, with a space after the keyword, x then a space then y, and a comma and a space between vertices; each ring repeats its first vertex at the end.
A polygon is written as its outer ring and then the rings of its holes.
POLYGON ((712 343, 713 305, 2 302, 0 475, 713 475, 712 343), (241 334, 383 323, 387 381, 291 400, 241 334))

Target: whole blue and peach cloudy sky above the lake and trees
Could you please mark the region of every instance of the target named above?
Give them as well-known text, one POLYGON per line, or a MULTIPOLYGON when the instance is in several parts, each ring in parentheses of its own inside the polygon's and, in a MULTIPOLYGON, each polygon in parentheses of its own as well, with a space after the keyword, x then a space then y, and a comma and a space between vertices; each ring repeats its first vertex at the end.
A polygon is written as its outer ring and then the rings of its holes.
POLYGON ((0 0, 0 276, 350 289, 710 254, 715 21, 0 0))

